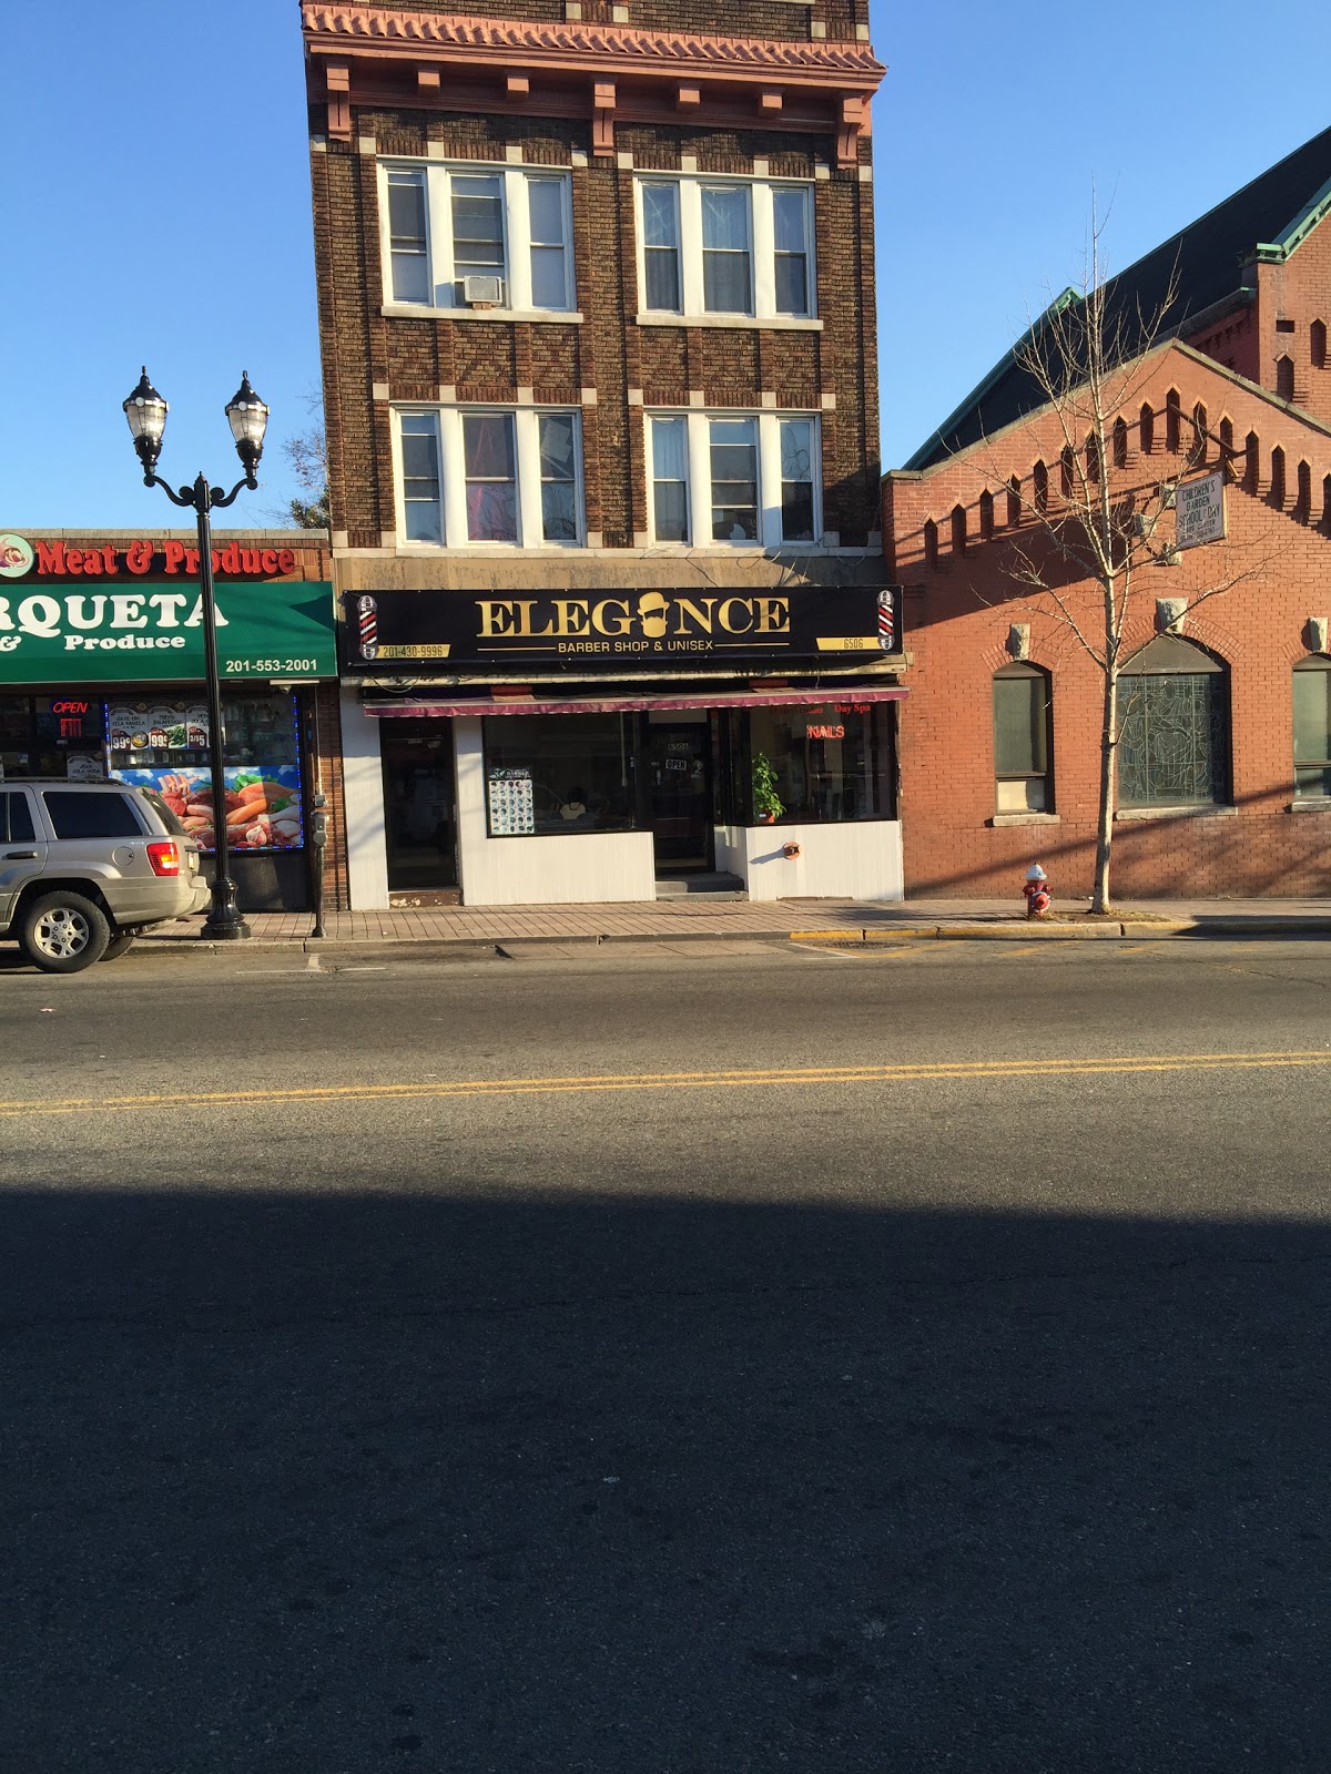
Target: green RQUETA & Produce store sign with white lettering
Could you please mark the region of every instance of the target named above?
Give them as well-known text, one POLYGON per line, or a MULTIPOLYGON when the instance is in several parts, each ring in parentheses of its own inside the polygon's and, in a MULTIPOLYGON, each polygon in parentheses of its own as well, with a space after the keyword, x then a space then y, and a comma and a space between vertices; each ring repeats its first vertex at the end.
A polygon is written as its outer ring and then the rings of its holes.
MULTIPOLYGON (((217 656, 227 678, 335 678, 332 585, 217 585, 217 656)), ((0 593, 0 685, 160 683, 204 676, 202 607, 186 584, 0 593)), ((71 710, 73 713, 73 710, 71 710)))

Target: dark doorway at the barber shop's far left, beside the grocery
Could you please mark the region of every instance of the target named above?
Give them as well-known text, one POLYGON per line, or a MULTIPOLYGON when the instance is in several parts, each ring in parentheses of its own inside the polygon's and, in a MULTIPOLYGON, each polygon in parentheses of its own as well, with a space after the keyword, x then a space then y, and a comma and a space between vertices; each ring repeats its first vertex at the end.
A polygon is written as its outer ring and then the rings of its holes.
POLYGON ((458 885, 451 720, 385 720, 383 814, 389 892, 458 885), (406 729, 405 733, 399 729, 406 729))

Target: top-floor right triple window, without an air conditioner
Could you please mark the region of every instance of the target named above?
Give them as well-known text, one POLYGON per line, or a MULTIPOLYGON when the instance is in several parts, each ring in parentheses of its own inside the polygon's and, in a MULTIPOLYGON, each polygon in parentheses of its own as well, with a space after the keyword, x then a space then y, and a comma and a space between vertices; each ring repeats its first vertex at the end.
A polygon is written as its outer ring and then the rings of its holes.
POLYGON ((644 176, 637 220, 644 316, 813 319, 813 186, 644 176))

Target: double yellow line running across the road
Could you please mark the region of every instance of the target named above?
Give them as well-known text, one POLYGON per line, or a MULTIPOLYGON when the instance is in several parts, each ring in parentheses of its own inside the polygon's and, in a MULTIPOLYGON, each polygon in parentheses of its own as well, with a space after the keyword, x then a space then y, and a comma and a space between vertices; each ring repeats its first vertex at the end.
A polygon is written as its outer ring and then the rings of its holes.
POLYGON ((119 1111, 289 1107, 350 1102, 426 1102, 447 1096, 555 1096, 593 1091, 729 1089, 797 1084, 928 1084, 937 1079, 1083 1079, 1150 1071, 1255 1071, 1331 1066, 1331 1050, 1271 1054, 1154 1054, 1106 1059, 958 1059, 937 1064, 767 1066, 751 1071, 625 1071, 575 1079, 467 1079, 419 1084, 327 1084, 300 1089, 177 1091, 137 1096, 60 1096, 0 1102, 0 1118, 115 1114, 119 1111))

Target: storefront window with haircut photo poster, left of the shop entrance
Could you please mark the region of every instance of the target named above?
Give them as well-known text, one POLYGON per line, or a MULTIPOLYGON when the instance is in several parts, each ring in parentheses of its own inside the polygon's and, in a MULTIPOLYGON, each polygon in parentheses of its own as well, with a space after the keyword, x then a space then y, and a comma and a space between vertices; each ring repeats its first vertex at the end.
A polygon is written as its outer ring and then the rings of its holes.
POLYGON ((484 722, 492 837, 632 832, 634 740, 623 715, 504 715, 484 722))

